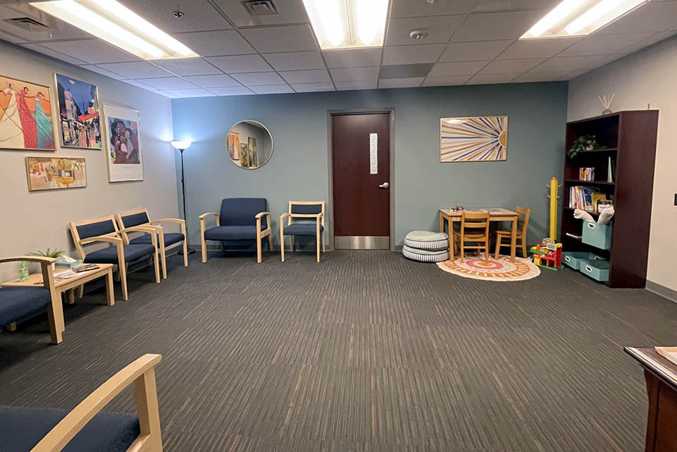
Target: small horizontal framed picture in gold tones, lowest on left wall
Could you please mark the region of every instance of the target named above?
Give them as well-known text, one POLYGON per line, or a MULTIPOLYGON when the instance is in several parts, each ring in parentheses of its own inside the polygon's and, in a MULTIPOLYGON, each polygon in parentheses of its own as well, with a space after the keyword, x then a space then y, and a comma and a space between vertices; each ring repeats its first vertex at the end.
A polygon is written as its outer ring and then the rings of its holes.
POLYGON ((26 157, 28 191, 87 186, 85 159, 26 157))

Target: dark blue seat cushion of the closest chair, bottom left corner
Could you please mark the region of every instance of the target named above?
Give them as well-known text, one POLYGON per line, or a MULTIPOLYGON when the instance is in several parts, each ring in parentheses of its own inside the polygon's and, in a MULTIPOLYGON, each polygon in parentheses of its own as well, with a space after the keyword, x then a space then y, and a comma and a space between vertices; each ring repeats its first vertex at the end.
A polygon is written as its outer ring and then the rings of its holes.
MULTIPOLYGON (((67 414, 68 410, 0 405, 0 451, 29 452, 67 414)), ((136 415, 99 413, 62 450, 125 452, 139 432, 136 415)))

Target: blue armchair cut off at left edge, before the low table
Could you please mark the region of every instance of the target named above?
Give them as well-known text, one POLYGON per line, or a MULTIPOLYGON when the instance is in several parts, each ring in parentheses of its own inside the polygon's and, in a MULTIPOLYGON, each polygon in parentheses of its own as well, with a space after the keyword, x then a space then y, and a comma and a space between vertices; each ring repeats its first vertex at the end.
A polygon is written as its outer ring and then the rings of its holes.
POLYGON ((43 286, 7 286, 0 288, 0 326, 16 329, 16 321, 36 310, 47 307, 49 317, 49 335, 51 343, 61 343, 63 324, 63 305, 61 295, 54 288, 54 272, 51 257, 18 256, 0 259, 2 262, 38 262, 42 267, 43 286))

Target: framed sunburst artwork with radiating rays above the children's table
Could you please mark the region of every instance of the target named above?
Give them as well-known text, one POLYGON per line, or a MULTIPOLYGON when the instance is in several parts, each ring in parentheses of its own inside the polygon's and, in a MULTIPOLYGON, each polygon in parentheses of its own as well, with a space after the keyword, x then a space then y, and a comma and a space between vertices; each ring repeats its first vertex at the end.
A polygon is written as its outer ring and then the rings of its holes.
POLYGON ((508 116, 440 118, 439 161, 503 161, 508 152, 508 116))

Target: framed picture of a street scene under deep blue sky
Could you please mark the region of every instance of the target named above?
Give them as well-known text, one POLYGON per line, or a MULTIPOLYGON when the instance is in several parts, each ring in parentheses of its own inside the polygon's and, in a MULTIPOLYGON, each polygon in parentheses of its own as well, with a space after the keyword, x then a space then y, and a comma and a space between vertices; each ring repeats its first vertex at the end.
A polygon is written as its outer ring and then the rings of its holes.
POLYGON ((54 74, 62 147, 101 149, 97 85, 54 74))

